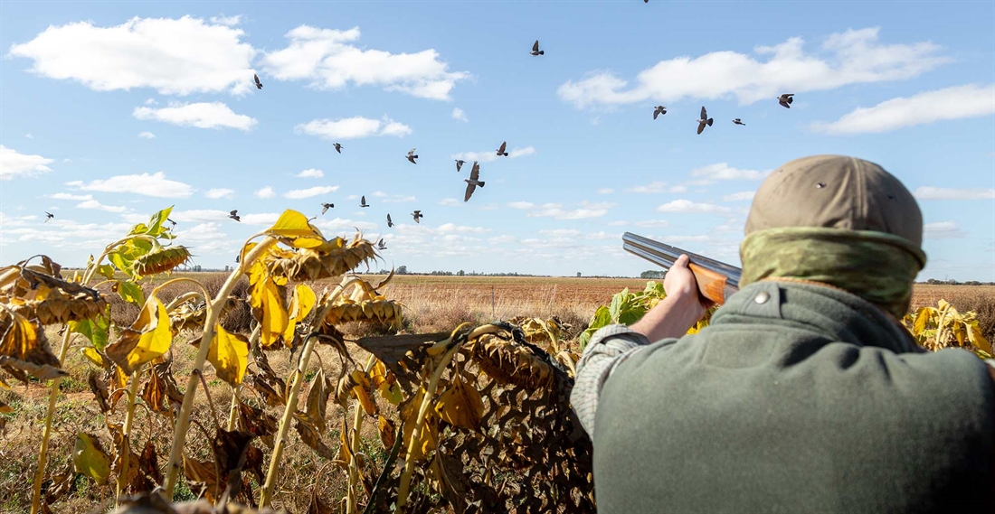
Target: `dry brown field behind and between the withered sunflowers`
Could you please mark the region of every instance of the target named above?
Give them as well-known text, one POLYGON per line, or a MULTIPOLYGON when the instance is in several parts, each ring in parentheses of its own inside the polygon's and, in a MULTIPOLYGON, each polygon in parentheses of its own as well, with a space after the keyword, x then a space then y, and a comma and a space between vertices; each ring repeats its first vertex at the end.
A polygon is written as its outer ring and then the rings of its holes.
MULTIPOLYGON (((184 273, 194 276, 216 292, 225 276, 222 273, 184 273)), ((366 276, 376 283, 380 276, 366 276)), ((243 281, 244 282, 244 281, 243 281)), ((624 287, 642 289, 646 285, 644 279, 616 278, 573 278, 573 277, 458 277, 458 276, 395 276, 391 283, 381 292, 395 298, 405 306, 407 318, 405 329, 417 332, 451 330, 462 321, 488 322, 494 319, 506 319, 516 315, 541 316, 548 318, 557 316, 563 322, 571 324, 567 331, 569 338, 575 338, 586 327, 587 321, 598 305, 607 303, 611 296, 624 287)), ((244 295, 246 283, 240 284, 237 293, 244 295)), ((316 291, 325 284, 312 284, 316 291)), ((146 292, 151 287, 146 287, 146 292)), ((160 294, 164 301, 189 290, 187 286, 169 286, 160 294)), ((111 295, 114 318, 117 323, 130 324, 138 309, 125 304, 116 295, 111 295)), ((943 298, 950 301, 962 311, 978 312, 982 328, 989 339, 995 339, 995 287, 993 286, 951 286, 951 285, 917 285, 914 290, 913 308, 926 304, 935 305, 936 300, 943 298)), ((245 329, 248 326, 249 313, 236 312, 225 320, 226 325, 245 329)), ((365 330, 360 327, 345 327, 346 332, 365 330), (351 330, 349 330, 351 329, 351 330)), ((195 350, 186 344, 194 334, 181 333, 173 342, 171 350, 174 359, 174 374, 181 387, 185 386, 186 374, 189 373, 195 350)), ((50 341, 60 341, 54 331, 49 332, 50 341)), ((78 343, 82 343, 78 341, 78 343)), ((320 347, 316 350, 320 356, 323 369, 329 376, 338 375, 339 362, 330 347, 320 347)), ((356 359, 365 359, 365 352, 358 347, 349 345, 349 351, 356 359)), ((292 361, 287 351, 271 352, 270 362, 278 374, 288 377, 292 372, 292 361)), ((311 363, 317 363, 312 359, 311 363)), ((312 369, 315 364, 312 364, 312 369)), ((80 353, 74 349, 70 352, 65 368, 71 377, 64 379, 61 385, 61 396, 56 411, 55 431, 50 445, 51 459, 49 472, 53 472, 66 462, 72 452, 73 443, 78 430, 99 433, 106 446, 106 428, 104 417, 100 414, 93 401, 93 394, 87 386, 87 375, 95 369, 80 353)), ((309 379, 312 375, 307 375, 309 379)), ((210 397, 215 409, 219 412, 220 423, 227 418, 231 402, 231 388, 218 380, 213 370, 208 366, 205 370, 210 397)), ((13 386, 14 384, 12 384, 13 386)), ((306 391, 308 386, 304 386, 306 391)), ((6 420, 5 432, 0 435, 0 512, 28 512, 31 502, 31 487, 34 469, 37 465, 38 446, 41 440, 47 406, 48 389, 39 383, 25 387, 16 385, 13 391, 0 390, 0 400, 15 408, 15 412, 0 415, 6 420)), ((246 397, 252 394, 245 393, 246 397)), ((122 418, 121 409, 113 415, 114 421, 122 418)), ((211 408, 206 398, 198 397, 195 406, 194 419, 210 429, 211 408)), ((270 412, 274 414, 275 410, 270 412)), ((337 447, 338 425, 334 420, 343 415, 342 409, 333 402, 328 406, 329 433, 325 440, 332 447, 337 447)), ((149 417, 139 415, 135 421, 135 440, 144 444, 151 433, 152 441, 159 453, 160 466, 165 464, 170 438, 166 427, 168 422, 159 416, 149 417), (140 435, 138 435, 140 434, 140 435)), ((378 454, 379 448, 376 428, 372 424, 364 426, 363 438, 369 441, 371 457, 382 462, 384 454, 378 454)), ((199 429, 191 432, 188 443, 191 444, 195 457, 207 458, 208 447, 204 434, 199 429)), ((382 453, 382 452, 381 452, 382 453)), ((289 434, 289 444, 284 453, 279 492, 275 496, 275 507, 284 507, 291 512, 303 512, 307 508, 309 496, 304 491, 310 491, 315 486, 314 476, 325 461, 318 458, 310 448, 304 445, 295 430, 289 434)), ((110 498, 111 487, 96 487, 82 476, 77 478, 79 487, 69 497, 54 505, 54 512, 106 512, 110 498), (96 510, 95 510, 96 509, 96 510)), ((323 474, 320 483, 316 484, 319 494, 334 503, 341 498, 344 491, 344 475, 337 468, 329 468, 323 474)), ((253 487, 258 484, 253 480, 253 487)), ((178 499, 190 499, 191 493, 181 480, 177 489, 178 499)))

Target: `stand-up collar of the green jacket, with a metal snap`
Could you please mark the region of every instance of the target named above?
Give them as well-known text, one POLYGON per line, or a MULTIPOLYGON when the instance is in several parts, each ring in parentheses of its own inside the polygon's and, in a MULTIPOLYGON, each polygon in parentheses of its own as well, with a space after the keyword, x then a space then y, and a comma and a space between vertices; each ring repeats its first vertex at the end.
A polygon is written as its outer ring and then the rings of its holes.
POLYGON ((760 280, 729 296, 712 325, 780 319, 831 341, 921 353, 911 334, 873 303, 843 289, 812 282, 760 280))

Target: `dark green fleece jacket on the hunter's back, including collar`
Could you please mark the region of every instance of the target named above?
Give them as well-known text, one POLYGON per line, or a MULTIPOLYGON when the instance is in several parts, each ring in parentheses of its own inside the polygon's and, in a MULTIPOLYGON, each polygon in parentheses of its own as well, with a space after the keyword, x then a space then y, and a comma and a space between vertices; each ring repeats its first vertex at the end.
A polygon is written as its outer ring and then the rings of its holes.
POLYGON ((697 335, 614 359, 592 433, 599 512, 995 506, 988 366, 921 353, 853 294, 756 282, 697 335))

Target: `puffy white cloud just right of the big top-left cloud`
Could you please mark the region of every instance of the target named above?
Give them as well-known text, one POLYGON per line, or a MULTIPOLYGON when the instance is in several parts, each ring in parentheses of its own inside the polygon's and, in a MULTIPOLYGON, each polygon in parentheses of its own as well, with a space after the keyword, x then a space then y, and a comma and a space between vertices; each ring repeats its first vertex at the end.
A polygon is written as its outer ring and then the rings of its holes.
POLYGON ((318 29, 307 25, 288 32, 286 49, 263 58, 264 70, 280 81, 308 81, 310 86, 338 89, 348 85, 382 86, 422 98, 450 99, 465 72, 448 72, 435 50, 417 54, 391 54, 362 50, 354 43, 359 28, 318 29))

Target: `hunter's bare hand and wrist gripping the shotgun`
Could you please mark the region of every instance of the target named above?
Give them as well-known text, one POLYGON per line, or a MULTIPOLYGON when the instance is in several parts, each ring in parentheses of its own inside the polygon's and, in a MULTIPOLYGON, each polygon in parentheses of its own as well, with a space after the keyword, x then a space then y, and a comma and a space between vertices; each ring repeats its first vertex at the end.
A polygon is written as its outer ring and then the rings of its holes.
POLYGON ((688 256, 681 256, 674 262, 664 277, 667 297, 629 328, 650 341, 659 341, 687 334, 688 329, 704 316, 713 302, 698 292, 695 273, 688 267, 689 260, 688 256))

